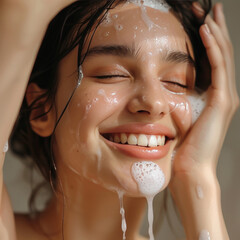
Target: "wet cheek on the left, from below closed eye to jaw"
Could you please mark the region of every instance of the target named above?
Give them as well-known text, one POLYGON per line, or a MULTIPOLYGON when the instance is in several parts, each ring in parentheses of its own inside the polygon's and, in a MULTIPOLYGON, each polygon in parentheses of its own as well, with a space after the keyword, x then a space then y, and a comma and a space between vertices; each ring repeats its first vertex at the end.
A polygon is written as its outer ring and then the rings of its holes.
POLYGON ((80 86, 55 133, 58 163, 77 175, 95 179, 104 157, 98 127, 121 109, 123 99, 121 91, 106 88, 88 88, 86 91, 80 86))

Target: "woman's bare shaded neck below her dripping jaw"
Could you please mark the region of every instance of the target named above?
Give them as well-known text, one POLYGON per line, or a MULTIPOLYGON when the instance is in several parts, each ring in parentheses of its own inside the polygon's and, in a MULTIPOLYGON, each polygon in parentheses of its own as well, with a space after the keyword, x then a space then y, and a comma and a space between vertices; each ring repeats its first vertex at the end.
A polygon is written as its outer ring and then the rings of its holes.
MULTIPOLYGON (((42 229, 54 239, 122 240, 120 200, 116 192, 81 179, 78 186, 67 184, 58 191, 39 216, 42 229), (57 234, 56 234, 57 233, 57 234), (64 235, 64 238, 62 237, 64 235)), ((146 200, 123 196, 127 239, 139 239, 139 227, 146 200)))

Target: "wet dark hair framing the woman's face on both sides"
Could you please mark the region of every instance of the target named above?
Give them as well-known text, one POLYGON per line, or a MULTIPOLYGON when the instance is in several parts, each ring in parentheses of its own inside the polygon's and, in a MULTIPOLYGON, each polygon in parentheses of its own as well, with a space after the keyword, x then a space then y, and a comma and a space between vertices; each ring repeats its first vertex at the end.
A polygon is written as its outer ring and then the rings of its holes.
MULTIPOLYGON (((18 119, 11 136, 11 148, 15 154, 23 160, 30 157, 40 169, 48 182, 56 183, 56 172, 51 156, 51 136, 41 137, 31 128, 30 113, 39 107, 39 100, 44 99, 54 106, 55 95, 58 87, 58 64, 73 50, 79 46, 78 66, 84 60, 81 50, 85 40, 89 36, 93 26, 107 10, 113 8, 121 0, 79 0, 63 9, 49 24, 44 40, 37 55, 29 83, 36 83, 44 89, 42 96, 31 105, 24 98, 18 119)), ((193 14, 191 8, 193 0, 166 0, 179 21, 182 23, 189 36, 196 61, 197 79, 196 86, 206 89, 209 79, 203 77, 206 65, 206 52, 199 36, 199 27, 204 18, 199 20, 193 14)), ((202 8, 207 14, 211 9, 211 0, 201 1, 202 8)), ((76 70, 78 69, 76 64, 76 70)), ((50 110, 50 109, 49 109, 50 110)), ((41 116, 39 116, 41 117, 41 116)))

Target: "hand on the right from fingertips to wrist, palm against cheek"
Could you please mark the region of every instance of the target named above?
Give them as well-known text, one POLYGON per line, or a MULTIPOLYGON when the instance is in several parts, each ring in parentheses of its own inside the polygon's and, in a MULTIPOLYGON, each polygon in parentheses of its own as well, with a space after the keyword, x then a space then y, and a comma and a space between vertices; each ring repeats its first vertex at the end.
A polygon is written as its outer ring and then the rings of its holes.
MULTIPOLYGON (((193 11, 201 15, 196 8, 193 11)), ((200 28, 211 66, 207 104, 177 151, 173 174, 190 173, 201 167, 209 167, 215 173, 227 129, 239 105, 233 47, 221 4, 214 6, 213 15, 213 19, 208 15, 200 28)))

